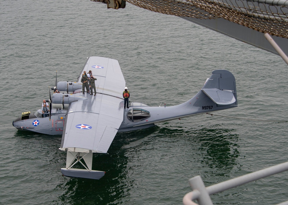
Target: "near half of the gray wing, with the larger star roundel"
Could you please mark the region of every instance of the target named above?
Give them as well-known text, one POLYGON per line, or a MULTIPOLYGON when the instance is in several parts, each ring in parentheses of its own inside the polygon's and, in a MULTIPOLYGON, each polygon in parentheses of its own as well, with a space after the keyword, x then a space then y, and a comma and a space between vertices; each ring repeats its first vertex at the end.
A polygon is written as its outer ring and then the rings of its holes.
POLYGON ((71 102, 65 117, 61 149, 107 152, 123 121, 123 99, 97 95, 96 99, 71 102))

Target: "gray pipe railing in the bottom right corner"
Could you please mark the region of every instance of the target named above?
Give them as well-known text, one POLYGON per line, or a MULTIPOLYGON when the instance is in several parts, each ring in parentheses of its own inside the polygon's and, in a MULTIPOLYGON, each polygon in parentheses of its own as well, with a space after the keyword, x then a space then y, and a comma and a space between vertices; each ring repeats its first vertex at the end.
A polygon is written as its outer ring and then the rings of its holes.
MULTIPOLYGON (((240 177, 236 177, 234 179, 223 181, 218 184, 211 185, 209 187, 205 187, 201 177, 198 175, 196 177, 189 179, 189 184, 193 191, 187 193, 183 197, 183 204, 197 205, 195 202, 193 202, 193 200, 197 200, 199 205, 213 205, 212 200, 210 198, 210 195, 212 194, 216 194, 218 192, 222 192, 227 189, 231 189, 233 187, 240 186, 245 183, 255 181, 257 179, 262 179, 264 177, 268 177, 287 170, 288 170, 288 162, 285 162, 240 177)), ((282 202, 277 205, 288 205, 288 201, 282 202)))

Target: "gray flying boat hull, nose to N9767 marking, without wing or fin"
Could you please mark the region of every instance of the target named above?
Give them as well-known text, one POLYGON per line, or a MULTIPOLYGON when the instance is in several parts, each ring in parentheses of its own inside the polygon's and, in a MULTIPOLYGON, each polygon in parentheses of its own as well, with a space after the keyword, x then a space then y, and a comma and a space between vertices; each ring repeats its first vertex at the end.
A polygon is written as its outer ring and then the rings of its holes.
MULTIPOLYGON (((123 121, 118 132, 145 129, 158 123, 232 107, 237 107, 237 105, 225 106, 224 108, 210 100, 203 92, 199 92, 189 101, 176 106, 149 107, 143 103, 131 102, 129 108, 124 109, 123 121)), ((18 117, 13 121, 13 126, 19 130, 62 135, 66 112, 67 110, 64 109, 52 109, 49 120, 49 117, 37 114, 38 111, 35 114, 30 114, 28 119, 21 120, 21 117, 18 117)))

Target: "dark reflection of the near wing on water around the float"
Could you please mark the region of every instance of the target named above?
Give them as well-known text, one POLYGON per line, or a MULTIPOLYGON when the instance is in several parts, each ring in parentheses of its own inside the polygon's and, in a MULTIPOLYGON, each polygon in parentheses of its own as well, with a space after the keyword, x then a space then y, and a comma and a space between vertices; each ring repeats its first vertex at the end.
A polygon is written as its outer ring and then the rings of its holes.
POLYGON ((121 199, 129 196, 129 190, 133 187, 133 180, 128 179, 127 174, 127 149, 129 144, 142 139, 153 132, 132 131, 118 133, 108 154, 94 154, 92 168, 106 171, 104 177, 99 180, 67 178, 67 183, 60 184, 57 189, 66 190, 59 199, 65 204, 117 204, 121 199))

